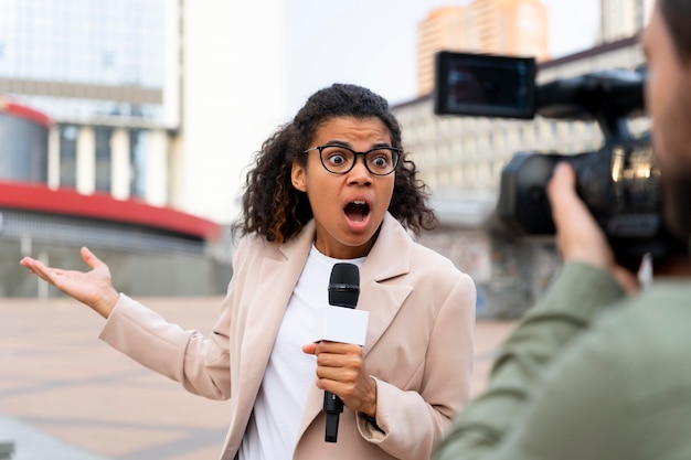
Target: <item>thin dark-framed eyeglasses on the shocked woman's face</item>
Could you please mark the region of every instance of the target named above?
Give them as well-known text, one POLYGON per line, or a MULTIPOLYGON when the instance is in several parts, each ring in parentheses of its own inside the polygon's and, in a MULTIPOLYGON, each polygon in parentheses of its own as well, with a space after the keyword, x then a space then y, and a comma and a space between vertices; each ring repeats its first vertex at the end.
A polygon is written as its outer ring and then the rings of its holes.
POLYGON ((364 167, 374 175, 389 175, 396 169, 401 158, 401 149, 395 147, 378 147, 366 152, 357 152, 343 146, 317 146, 304 153, 319 150, 321 165, 333 174, 346 174, 355 165, 358 156, 364 158, 364 167))

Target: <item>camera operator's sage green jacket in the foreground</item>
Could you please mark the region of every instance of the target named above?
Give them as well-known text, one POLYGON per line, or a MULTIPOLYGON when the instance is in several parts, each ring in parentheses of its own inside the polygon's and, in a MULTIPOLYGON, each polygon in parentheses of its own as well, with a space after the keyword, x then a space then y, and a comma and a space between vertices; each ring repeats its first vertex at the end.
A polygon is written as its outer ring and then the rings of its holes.
POLYGON ((566 264, 433 458, 691 459, 691 281, 566 264))

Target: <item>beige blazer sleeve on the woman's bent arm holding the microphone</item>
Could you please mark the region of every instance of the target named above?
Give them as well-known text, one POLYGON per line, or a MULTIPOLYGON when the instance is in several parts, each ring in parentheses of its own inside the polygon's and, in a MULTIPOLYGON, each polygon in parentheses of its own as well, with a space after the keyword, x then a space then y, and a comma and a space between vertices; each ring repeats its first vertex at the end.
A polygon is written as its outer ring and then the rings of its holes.
POLYGON ((398 459, 429 458, 470 394, 476 289, 461 275, 438 310, 419 392, 376 379, 376 425, 358 414, 360 434, 398 459))

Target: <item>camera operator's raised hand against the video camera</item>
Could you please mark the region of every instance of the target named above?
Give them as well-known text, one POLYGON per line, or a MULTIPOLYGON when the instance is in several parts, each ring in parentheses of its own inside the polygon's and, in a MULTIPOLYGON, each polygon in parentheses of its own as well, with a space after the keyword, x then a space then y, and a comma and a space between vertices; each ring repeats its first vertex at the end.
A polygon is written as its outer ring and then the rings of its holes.
POLYGON ((576 194, 576 175, 567 163, 559 163, 548 184, 556 246, 564 261, 578 260, 607 270, 627 292, 638 289, 636 275, 617 264, 607 237, 585 203, 576 194))

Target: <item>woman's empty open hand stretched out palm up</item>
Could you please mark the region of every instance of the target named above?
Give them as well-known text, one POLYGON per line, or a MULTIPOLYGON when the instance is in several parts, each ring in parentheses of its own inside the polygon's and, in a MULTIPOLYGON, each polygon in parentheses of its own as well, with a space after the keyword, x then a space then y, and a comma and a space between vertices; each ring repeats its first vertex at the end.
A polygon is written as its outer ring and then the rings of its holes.
POLYGON ((87 304, 104 318, 108 318, 119 298, 118 291, 113 287, 110 269, 86 247, 82 248, 81 255, 92 268, 89 271, 46 267, 42 261, 31 257, 24 257, 19 264, 66 295, 87 304))

